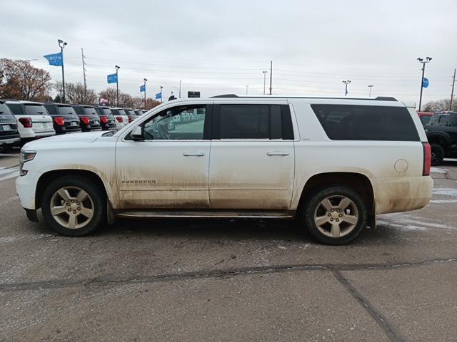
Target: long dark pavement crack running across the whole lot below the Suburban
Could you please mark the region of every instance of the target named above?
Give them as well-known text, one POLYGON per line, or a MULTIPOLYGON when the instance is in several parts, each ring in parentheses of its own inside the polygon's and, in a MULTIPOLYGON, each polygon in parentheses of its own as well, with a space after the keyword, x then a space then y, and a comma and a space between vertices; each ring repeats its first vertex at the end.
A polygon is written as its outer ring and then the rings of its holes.
POLYGON ((41 289, 60 289, 74 286, 89 285, 125 285, 125 284, 147 284, 158 281, 180 281, 183 279, 218 278, 249 274, 273 274, 286 271, 357 271, 373 269, 398 269, 403 267, 424 266, 436 263, 451 263, 457 261, 452 259, 433 259, 418 261, 414 263, 398 264, 286 264, 276 266, 253 266, 239 267, 233 269, 215 269, 208 271, 192 271, 175 274, 136 274, 131 276, 99 276, 86 279, 55 279, 49 281, 29 281, 18 283, 0 284, 0 292, 26 291, 41 289))

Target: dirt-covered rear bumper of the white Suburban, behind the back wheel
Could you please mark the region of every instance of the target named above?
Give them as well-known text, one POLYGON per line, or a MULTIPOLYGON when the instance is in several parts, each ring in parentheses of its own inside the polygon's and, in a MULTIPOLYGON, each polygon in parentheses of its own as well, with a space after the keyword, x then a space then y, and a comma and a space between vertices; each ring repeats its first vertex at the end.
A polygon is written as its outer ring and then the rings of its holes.
POLYGON ((426 207, 433 192, 430 176, 374 178, 376 214, 409 212, 426 207))

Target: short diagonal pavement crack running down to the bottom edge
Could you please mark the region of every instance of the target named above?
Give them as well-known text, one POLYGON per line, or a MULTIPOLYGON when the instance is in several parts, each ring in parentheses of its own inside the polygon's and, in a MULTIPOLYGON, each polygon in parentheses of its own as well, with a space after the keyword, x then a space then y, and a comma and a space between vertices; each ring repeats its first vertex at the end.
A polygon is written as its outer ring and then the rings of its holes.
POLYGON ((387 318, 384 317, 376 308, 373 306, 373 304, 368 301, 364 296, 361 295, 360 292, 357 291, 357 289, 352 286, 352 284, 346 279, 343 274, 341 274, 341 271, 338 271, 336 269, 332 270, 333 276, 335 276, 336 280, 343 286, 351 296, 353 296, 354 299, 360 304, 363 309, 365 309, 366 312, 371 316, 371 318, 376 321, 378 326, 381 327, 381 329, 384 331, 386 336, 390 341, 396 341, 396 342, 402 342, 406 341, 405 338, 401 336, 398 331, 396 331, 395 328, 391 325, 391 323, 388 322, 387 318))

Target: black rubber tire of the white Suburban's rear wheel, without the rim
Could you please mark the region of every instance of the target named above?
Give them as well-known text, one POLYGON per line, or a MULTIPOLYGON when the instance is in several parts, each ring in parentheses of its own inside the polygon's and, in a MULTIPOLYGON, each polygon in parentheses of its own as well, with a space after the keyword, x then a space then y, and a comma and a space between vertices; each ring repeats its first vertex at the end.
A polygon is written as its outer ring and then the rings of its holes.
MULTIPOLYGON (((358 194, 358 192, 352 190, 349 187, 335 185, 321 188, 308 197, 308 200, 306 200, 302 208, 301 219, 305 224, 306 229, 308 229, 311 237, 313 237, 313 239, 315 239, 317 242, 320 242, 321 244, 348 244, 349 242, 353 241, 353 239, 356 239, 356 237, 358 237, 358 235, 361 233, 362 229, 366 228, 367 225, 366 203, 361 195, 358 194), (329 237, 326 234, 323 234, 320 229, 318 229, 316 222, 314 221, 314 214, 324 199, 327 197, 337 198, 338 196, 351 199, 358 212, 358 221, 355 224, 355 227, 346 235, 341 237, 329 237)), ((343 224, 343 222, 341 222, 341 224, 343 224)))

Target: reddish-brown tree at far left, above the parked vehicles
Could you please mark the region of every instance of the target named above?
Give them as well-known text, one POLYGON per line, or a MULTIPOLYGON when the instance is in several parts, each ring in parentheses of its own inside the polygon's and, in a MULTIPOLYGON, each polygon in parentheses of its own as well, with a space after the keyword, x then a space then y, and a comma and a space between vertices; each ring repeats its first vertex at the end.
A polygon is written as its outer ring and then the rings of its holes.
POLYGON ((49 100, 51 75, 30 61, 0 59, 0 97, 19 100, 49 100))

